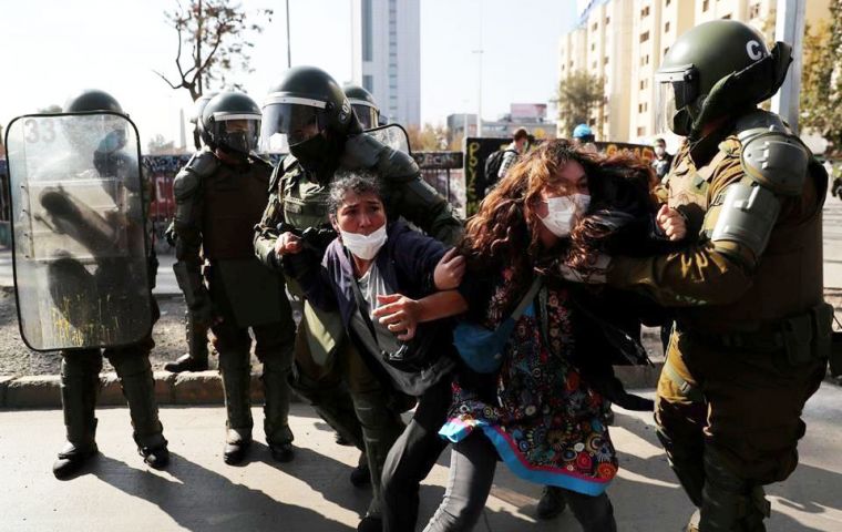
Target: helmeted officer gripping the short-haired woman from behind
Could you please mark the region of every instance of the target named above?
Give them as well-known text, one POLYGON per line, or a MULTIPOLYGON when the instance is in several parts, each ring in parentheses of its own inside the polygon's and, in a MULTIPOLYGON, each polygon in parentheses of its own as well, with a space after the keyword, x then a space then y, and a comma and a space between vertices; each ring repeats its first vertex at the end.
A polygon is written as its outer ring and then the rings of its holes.
MULTIPOLYGON (((421 181, 409 154, 361 131, 348 98, 320 69, 294 68, 271 90, 264 105, 260 143, 267 151, 288 149, 290 155, 275 168, 269 204, 256 228, 255 252, 264 264, 281 265, 279 250, 290 234, 279 232, 278 224, 290 224, 299 232, 330 227, 326 201, 337 172, 373 172, 391 219, 403 216, 446 243, 460 236, 461 222, 446 201, 421 181)), ((380 475, 389 448, 403 428, 400 407, 390 407, 391 395, 347 341, 338 315, 318 311, 305 301, 298 330, 294 387, 358 447, 361 426, 373 501, 358 530, 381 530, 380 475), (350 403, 353 411, 348 409, 350 403)))

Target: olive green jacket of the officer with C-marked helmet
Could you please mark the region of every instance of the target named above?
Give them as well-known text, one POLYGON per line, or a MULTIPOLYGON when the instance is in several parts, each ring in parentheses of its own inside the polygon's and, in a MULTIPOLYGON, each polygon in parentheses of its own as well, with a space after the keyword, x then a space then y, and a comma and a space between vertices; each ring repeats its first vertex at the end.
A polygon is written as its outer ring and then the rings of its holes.
POLYGON ((779 196, 780 213, 760 256, 737 242, 711 242, 726 188, 749 178, 733 131, 685 142, 666 178, 668 205, 687 219, 689 244, 649 258, 614 257, 608 283, 679 307, 697 331, 753 331, 822 301, 821 216, 826 176, 812 172, 800 195, 779 196))

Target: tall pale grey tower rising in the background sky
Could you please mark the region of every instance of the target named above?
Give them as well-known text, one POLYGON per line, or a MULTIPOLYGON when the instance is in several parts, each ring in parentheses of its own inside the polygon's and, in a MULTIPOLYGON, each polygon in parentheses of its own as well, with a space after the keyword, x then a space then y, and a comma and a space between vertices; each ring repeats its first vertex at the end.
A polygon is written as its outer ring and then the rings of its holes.
POLYGON ((421 124, 421 28, 417 0, 351 0, 352 79, 380 112, 421 124))

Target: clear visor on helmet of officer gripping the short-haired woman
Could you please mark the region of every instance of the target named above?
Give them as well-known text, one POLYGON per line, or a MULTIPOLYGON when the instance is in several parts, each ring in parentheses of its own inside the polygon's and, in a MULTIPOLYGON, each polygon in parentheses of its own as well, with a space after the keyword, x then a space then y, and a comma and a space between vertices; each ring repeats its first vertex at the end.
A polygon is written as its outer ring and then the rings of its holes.
POLYGON ((285 98, 283 102, 269 102, 264 109, 260 130, 260 151, 288 153, 290 146, 318 135, 327 127, 325 102, 285 98), (290 102, 289 100, 300 100, 290 102))

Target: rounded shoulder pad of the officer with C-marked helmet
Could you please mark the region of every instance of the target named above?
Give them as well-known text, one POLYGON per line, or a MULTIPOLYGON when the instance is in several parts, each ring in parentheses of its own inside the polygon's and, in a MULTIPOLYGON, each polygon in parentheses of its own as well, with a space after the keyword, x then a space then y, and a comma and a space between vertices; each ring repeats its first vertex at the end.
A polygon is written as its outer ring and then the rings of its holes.
POLYGON ((742 144, 740 163, 747 176, 776 194, 801 194, 811 154, 801 140, 783 126, 780 119, 777 123, 769 121, 767 126, 740 131, 738 139, 742 144))

